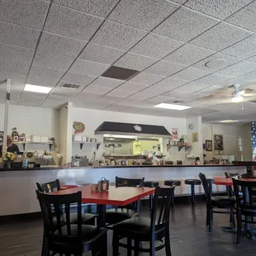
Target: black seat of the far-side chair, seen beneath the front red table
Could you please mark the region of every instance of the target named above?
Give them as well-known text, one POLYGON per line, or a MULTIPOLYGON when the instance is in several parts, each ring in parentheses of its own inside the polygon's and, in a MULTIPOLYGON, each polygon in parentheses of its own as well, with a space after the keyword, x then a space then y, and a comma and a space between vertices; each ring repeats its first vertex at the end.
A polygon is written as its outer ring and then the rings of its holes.
POLYGON ((106 211, 106 222, 108 224, 116 224, 123 220, 139 216, 139 213, 127 208, 112 208, 106 211))

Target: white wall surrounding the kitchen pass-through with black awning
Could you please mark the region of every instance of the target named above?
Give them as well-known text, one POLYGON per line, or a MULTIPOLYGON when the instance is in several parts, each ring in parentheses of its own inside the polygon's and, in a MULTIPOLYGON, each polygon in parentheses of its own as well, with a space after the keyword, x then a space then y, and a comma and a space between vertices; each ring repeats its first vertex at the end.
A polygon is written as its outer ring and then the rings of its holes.
MULTIPOLYGON (((162 117, 162 116, 146 116, 146 115, 136 115, 128 114, 114 111, 98 111, 85 108, 76 108, 73 107, 72 113, 70 113, 73 121, 81 121, 85 125, 85 130, 83 135, 88 137, 96 137, 98 141, 103 141, 102 135, 94 135, 94 131, 98 126, 102 124, 103 121, 116 121, 116 122, 126 122, 126 123, 138 123, 145 125, 155 125, 155 126, 164 126, 170 133, 172 128, 178 128, 179 135, 186 135, 186 119, 185 118, 173 118, 173 117, 162 117)), ((164 140, 164 154, 166 154, 166 144, 168 140, 164 140)), ((177 150, 178 149, 172 149, 177 150)), ((80 150, 79 145, 73 145, 73 153, 78 155, 87 155, 88 159, 92 158, 93 152, 96 149, 92 145, 83 145, 83 149, 80 150)), ((96 158, 102 159, 103 147, 102 145, 96 151, 96 158)), ((171 156, 170 159, 172 159, 171 156)), ((186 159, 185 153, 180 152, 179 158, 181 160, 186 159), (182 159, 183 157, 183 159, 182 159)))

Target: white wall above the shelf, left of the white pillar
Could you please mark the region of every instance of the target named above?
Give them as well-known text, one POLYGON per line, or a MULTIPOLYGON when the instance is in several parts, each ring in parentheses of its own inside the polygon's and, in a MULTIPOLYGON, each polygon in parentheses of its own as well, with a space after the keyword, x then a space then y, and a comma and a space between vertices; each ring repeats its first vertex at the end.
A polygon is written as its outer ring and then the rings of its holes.
MULTIPOLYGON (((12 128, 16 127, 19 134, 43 135, 55 137, 56 111, 43 107, 25 107, 10 105, 8 120, 8 135, 12 134, 12 128)), ((3 130, 4 105, 0 104, 0 130, 3 130)), ((21 146, 21 145, 20 145, 21 146)), ((36 145, 38 147, 39 145, 36 145)), ((27 145, 27 150, 36 150, 35 145, 27 145)), ((48 146, 40 146, 40 149, 48 149, 48 146)))

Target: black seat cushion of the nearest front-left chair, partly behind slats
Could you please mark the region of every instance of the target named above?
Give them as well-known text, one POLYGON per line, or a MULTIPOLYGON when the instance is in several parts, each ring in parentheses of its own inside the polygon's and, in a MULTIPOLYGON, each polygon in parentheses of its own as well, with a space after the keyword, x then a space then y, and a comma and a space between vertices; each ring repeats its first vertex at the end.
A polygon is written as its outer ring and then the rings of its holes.
MULTIPOLYGON (((78 225, 70 225, 71 235, 78 235, 78 225)), ((61 228, 62 235, 68 235, 67 226, 61 228)), ((83 244, 92 243, 93 240, 98 239, 101 235, 107 232, 104 228, 98 228, 95 225, 82 225, 82 241, 83 244)), ((59 231, 56 230, 55 234, 58 235, 59 231)))

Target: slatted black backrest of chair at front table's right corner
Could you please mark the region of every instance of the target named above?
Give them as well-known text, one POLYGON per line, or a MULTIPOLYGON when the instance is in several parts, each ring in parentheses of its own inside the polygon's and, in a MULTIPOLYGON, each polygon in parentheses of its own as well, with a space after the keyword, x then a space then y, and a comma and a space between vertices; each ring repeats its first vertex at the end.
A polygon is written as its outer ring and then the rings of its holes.
POLYGON ((153 234, 155 232, 155 225, 158 226, 158 232, 164 230, 164 228, 169 225, 170 208, 174 189, 174 184, 172 187, 155 188, 153 208, 151 212, 151 232, 153 232, 153 234))

